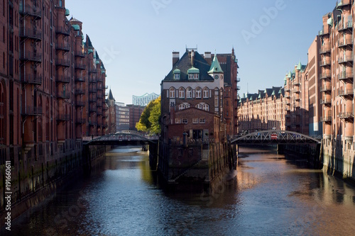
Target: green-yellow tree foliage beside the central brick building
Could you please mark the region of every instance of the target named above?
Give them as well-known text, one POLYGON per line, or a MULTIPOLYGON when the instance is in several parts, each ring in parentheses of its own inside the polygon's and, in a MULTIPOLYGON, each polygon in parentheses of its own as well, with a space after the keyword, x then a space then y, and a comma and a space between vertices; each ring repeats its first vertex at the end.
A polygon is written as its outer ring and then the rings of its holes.
POLYGON ((160 96, 148 103, 148 106, 144 108, 144 111, 136 123, 136 129, 148 133, 160 133, 160 96))

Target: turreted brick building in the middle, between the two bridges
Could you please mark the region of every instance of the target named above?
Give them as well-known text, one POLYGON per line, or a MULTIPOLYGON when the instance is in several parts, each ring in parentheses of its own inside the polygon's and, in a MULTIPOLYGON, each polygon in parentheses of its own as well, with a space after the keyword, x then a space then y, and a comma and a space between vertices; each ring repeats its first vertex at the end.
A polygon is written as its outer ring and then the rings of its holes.
POLYGON ((233 135, 237 68, 234 50, 229 55, 202 56, 187 49, 181 58, 173 52, 173 69, 161 83, 163 140, 181 140, 187 133, 190 140, 219 142, 233 135))

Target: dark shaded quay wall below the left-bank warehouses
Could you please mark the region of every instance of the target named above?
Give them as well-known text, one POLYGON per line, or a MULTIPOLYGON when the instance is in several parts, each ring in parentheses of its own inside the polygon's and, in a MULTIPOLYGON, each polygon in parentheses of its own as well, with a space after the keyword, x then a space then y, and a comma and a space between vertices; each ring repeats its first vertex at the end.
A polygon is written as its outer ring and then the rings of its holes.
MULTIPOLYGON (((69 143, 69 142, 68 142, 69 143)), ((88 174, 92 167, 104 159, 110 147, 92 146, 82 150, 82 142, 73 145, 58 145, 58 149, 24 153, 21 147, 0 149, 0 227, 4 226, 5 201, 5 162, 11 162, 11 219, 18 217, 32 206, 53 195, 77 176, 88 174), (22 152, 22 153, 21 153, 22 152), (51 155, 53 153, 53 155, 51 155)))

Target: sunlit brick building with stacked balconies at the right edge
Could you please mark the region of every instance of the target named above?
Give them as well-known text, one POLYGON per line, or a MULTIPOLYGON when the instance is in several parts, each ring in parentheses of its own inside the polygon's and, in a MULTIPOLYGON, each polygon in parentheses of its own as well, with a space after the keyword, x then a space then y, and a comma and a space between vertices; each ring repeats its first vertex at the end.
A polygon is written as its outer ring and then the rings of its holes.
POLYGON ((342 0, 322 18, 322 123, 324 164, 355 178, 354 1, 342 0))

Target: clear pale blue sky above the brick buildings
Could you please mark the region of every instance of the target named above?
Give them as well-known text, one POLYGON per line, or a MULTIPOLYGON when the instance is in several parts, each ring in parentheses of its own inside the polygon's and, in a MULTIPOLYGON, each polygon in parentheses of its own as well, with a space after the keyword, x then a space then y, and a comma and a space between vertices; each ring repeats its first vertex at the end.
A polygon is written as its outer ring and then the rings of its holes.
POLYGON ((172 52, 185 47, 230 53, 239 60, 241 94, 283 86, 285 73, 301 60, 335 0, 67 0, 70 16, 107 69, 116 101, 160 94, 172 52), (276 9, 266 13, 265 9, 276 9), (261 23, 261 28, 256 23, 261 23))

